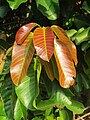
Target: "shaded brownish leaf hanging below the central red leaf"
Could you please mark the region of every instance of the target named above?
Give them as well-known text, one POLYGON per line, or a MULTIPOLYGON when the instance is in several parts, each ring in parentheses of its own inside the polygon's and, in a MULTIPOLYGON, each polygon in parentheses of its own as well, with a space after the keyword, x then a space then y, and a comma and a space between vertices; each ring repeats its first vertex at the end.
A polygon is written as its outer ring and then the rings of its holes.
POLYGON ((53 66, 52 66, 51 60, 49 62, 43 61, 41 59, 39 59, 39 60, 40 60, 41 64, 44 66, 48 78, 51 81, 53 81, 54 80, 54 71, 53 71, 53 66))

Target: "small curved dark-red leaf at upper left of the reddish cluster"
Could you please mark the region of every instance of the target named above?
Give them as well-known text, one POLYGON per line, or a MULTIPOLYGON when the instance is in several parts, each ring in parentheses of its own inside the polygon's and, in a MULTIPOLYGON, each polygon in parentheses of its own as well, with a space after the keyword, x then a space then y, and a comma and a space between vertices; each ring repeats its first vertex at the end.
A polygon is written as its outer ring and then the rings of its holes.
POLYGON ((22 44, 27 36, 30 34, 30 31, 37 26, 36 23, 29 23, 24 26, 22 26, 16 33, 15 41, 17 44, 22 44))

